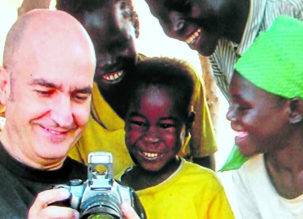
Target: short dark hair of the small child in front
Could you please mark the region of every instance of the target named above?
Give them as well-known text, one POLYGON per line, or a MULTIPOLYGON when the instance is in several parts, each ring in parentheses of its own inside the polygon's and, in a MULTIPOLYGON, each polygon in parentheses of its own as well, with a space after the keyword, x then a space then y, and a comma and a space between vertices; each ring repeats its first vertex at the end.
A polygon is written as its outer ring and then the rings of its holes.
POLYGON ((184 60, 153 57, 139 61, 129 86, 128 102, 140 88, 168 87, 175 91, 182 115, 188 116, 195 86, 194 76, 193 68, 184 60))

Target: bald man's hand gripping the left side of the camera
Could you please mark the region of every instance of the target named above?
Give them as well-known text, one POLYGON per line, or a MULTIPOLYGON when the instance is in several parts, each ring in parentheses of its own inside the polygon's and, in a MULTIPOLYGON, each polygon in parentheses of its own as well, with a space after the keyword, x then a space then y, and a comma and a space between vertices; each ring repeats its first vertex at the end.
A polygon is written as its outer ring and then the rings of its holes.
POLYGON ((66 200, 69 196, 69 192, 63 188, 40 192, 29 209, 27 219, 78 219, 79 213, 72 208, 48 206, 55 201, 66 200))

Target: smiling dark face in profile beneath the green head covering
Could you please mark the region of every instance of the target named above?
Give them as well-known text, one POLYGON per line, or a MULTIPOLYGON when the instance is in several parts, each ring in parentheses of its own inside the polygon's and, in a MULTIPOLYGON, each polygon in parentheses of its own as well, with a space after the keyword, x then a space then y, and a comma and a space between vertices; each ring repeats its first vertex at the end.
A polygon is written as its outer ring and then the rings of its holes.
POLYGON ((245 156, 283 148, 289 135, 289 117, 285 103, 259 89, 239 73, 234 73, 229 91, 231 103, 227 119, 239 132, 236 145, 245 156))

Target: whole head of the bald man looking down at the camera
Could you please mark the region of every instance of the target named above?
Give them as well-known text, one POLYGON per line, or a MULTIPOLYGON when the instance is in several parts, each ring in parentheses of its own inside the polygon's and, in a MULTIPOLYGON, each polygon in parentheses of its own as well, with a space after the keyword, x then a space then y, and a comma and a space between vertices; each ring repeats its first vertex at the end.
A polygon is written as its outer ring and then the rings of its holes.
POLYGON ((69 14, 38 9, 13 25, 3 57, 0 141, 24 164, 58 167, 89 120, 93 43, 69 14))

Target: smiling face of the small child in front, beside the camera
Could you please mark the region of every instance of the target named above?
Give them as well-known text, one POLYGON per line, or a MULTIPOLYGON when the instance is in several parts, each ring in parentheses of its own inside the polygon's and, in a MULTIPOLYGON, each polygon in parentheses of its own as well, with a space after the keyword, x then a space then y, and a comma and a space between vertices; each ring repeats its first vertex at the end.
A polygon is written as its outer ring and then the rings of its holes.
POLYGON ((186 137, 176 92, 166 87, 138 89, 125 119, 125 143, 138 163, 158 171, 175 158, 186 137))

